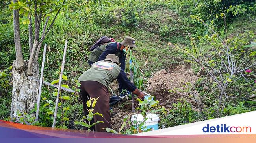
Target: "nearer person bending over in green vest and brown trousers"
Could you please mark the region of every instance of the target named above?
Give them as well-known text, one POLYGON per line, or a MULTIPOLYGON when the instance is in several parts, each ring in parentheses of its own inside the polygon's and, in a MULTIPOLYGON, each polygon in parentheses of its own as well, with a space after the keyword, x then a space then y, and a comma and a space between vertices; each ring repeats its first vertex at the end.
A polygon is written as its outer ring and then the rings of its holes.
MULTIPOLYGON (((104 123, 98 123, 91 128, 91 130, 98 132, 106 132, 102 128, 111 128, 110 126, 110 106, 109 106, 109 92, 108 85, 114 80, 118 79, 122 82, 126 88, 133 94, 138 95, 138 98, 143 98, 143 92, 139 91, 134 84, 128 80, 125 72, 121 67, 121 63, 118 57, 114 54, 108 54, 104 60, 95 62, 91 65, 91 68, 83 72, 78 78, 80 82, 80 98, 83 102, 83 112, 86 116, 88 114, 86 102, 88 98, 99 97, 94 107, 93 114, 99 112, 102 116, 93 116, 93 123, 97 121, 103 121, 104 123)), ((93 124, 92 122, 90 124, 93 124)), ((88 130, 88 129, 85 129, 88 130)))

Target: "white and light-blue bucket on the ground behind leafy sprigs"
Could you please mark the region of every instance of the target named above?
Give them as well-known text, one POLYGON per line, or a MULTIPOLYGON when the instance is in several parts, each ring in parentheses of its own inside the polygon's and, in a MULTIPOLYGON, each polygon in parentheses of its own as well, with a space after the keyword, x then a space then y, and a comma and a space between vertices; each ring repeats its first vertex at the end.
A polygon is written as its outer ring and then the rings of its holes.
MULTIPOLYGON (((147 129, 158 130, 158 121, 159 121, 158 115, 148 113, 146 115, 146 118, 148 118, 148 119, 145 121, 145 123, 143 125, 143 127, 146 126, 146 128, 143 130, 147 130, 147 129)), ((132 121, 133 125, 134 125, 134 121, 137 121, 137 123, 135 125, 138 125, 139 123, 141 123, 143 121, 143 116, 141 114, 132 115, 131 121, 132 121)))

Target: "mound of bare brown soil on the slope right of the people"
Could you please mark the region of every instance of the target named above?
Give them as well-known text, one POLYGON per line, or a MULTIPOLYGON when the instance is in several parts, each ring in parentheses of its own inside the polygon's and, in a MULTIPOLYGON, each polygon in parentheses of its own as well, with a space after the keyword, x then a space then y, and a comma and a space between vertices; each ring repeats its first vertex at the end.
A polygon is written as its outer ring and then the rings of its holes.
POLYGON ((188 98, 187 84, 195 83, 197 76, 189 65, 173 66, 170 69, 162 69, 156 72, 148 80, 148 94, 156 96, 161 106, 171 107, 180 98, 188 98), (168 71, 168 72, 167 72, 168 71))

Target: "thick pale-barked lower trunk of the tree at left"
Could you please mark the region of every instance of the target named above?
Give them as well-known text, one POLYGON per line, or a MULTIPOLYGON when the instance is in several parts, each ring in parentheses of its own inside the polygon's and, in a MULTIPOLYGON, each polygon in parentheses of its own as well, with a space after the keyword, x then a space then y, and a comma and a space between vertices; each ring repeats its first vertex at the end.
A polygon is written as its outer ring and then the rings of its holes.
MULTIPOLYGON (((17 112, 29 113, 35 106, 38 95, 38 82, 28 78, 26 74, 28 62, 25 62, 23 70, 18 71, 15 68, 15 62, 13 62, 13 97, 11 102, 11 120, 19 118, 17 112)), ((32 75, 33 78, 39 77, 38 62, 32 63, 32 75)))

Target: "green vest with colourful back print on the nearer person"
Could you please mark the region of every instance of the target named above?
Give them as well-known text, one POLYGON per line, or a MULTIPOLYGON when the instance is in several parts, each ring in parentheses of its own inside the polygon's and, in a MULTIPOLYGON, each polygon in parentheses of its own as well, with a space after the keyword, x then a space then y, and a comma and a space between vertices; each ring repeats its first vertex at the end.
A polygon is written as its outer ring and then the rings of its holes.
POLYGON ((97 81, 108 88, 108 85, 117 79, 121 68, 111 61, 98 61, 91 68, 83 72, 78 81, 97 81))

